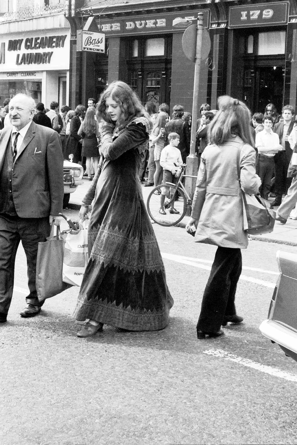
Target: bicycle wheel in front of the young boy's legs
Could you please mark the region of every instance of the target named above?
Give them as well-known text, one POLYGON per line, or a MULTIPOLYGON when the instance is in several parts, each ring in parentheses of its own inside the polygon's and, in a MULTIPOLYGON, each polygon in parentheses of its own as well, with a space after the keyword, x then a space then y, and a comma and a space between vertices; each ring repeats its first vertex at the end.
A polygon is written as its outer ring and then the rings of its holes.
POLYGON ((170 213, 170 198, 166 196, 165 202, 164 202, 164 209, 166 214, 160 214, 160 199, 161 199, 161 192, 164 189, 164 186, 161 184, 160 186, 155 187, 151 193, 148 195, 147 201, 146 201, 146 208, 148 211, 148 214, 150 215, 151 219, 155 221, 155 223, 160 224, 160 226, 174 226, 175 224, 179 223, 183 219, 183 217, 186 214, 187 211, 187 199, 183 193, 183 190, 178 188, 178 199, 175 199, 174 202, 174 208, 179 213, 170 213))

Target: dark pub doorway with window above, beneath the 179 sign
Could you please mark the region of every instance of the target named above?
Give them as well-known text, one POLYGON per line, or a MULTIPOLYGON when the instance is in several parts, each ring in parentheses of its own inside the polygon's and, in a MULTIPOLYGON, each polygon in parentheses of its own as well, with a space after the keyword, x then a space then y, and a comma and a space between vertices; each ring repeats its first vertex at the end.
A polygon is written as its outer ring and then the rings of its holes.
POLYGON ((286 30, 236 29, 233 39, 231 96, 244 101, 252 113, 264 113, 270 102, 281 113, 286 30))

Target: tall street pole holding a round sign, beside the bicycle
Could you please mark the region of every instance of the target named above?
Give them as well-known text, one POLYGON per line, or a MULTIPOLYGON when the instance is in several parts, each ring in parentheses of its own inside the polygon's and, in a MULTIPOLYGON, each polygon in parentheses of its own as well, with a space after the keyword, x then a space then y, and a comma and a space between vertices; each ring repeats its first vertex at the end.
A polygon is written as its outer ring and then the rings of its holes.
MULTIPOLYGON (((198 13, 197 17, 197 36, 196 36, 196 55, 195 55, 195 73, 193 86, 193 108, 192 108, 192 125, 191 125, 191 145, 190 154, 187 156, 186 175, 197 176, 198 158, 195 154, 196 131, 197 131, 197 110, 198 110, 198 93, 199 93, 199 75, 201 65, 201 48, 202 48, 202 31, 203 31, 203 12, 198 13)), ((185 178, 185 189, 191 196, 194 196, 196 186, 196 178, 185 178)))

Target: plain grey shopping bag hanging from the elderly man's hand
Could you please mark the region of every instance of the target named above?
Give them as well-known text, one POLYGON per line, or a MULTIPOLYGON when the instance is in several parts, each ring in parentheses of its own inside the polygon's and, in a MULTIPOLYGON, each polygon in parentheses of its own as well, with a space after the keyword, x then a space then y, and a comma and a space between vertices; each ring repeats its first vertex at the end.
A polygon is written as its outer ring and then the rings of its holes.
POLYGON ((60 294, 70 287, 63 283, 62 267, 64 239, 61 239, 60 227, 54 236, 54 223, 47 241, 38 243, 36 263, 36 289, 39 301, 60 294))

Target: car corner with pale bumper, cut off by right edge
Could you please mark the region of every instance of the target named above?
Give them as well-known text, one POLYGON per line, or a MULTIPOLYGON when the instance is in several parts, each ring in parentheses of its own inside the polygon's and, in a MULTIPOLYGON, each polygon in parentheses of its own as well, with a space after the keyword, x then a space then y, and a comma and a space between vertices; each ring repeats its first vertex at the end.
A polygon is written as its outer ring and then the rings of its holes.
POLYGON ((297 361, 297 255, 277 252, 280 275, 260 331, 297 361))

